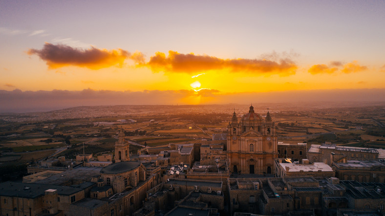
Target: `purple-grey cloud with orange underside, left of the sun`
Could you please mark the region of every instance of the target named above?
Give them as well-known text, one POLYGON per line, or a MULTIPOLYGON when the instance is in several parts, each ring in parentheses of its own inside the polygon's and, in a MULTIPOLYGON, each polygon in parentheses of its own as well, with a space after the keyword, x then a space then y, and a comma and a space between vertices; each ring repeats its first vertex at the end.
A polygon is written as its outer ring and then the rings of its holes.
MULTIPOLYGON (((90 69, 100 69, 110 66, 122 66, 127 58, 141 61, 137 53, 131 55, 123 49, 88 49, 73 48, 64 44, 45 43, 43 49, 29 49, 28 55, 38 55, 48 65, 49 69, 63 66, 79 66, 90 69)), ((143 57, 143 56, 142 56, 143 57)))

